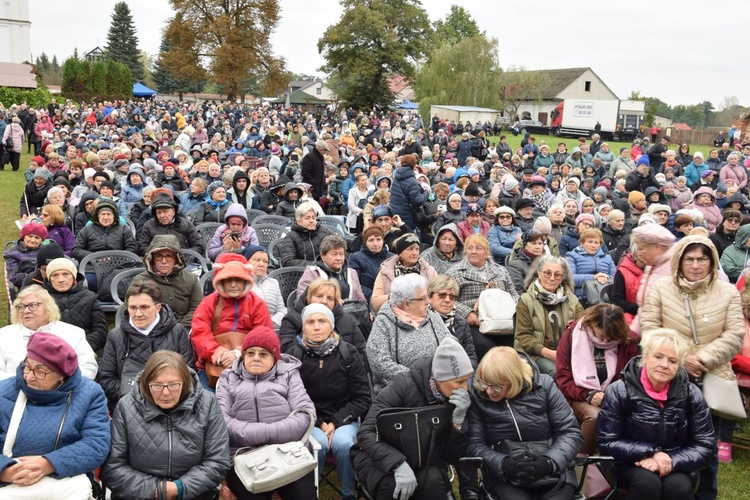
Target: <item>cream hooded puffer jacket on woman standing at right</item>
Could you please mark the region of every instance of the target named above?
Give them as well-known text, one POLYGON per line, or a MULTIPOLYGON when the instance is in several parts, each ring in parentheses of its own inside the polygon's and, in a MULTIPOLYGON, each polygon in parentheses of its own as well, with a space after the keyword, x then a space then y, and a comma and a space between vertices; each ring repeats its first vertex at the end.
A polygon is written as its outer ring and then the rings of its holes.
MULTIPOLYGON (((680 259, 691 243, 706 243, 702 236, 686 236, 675 246, 671 260, 672 276, 657 281, 646 295, 640 311, 641 331, 673 328, 688 340, 690 352, 713 373, 734 380, 730 365, 740 352, 745 336, 740 294, 734 285, 718 279, 719 256, 713 245, 713 267, 708 277, 691 289, 680 275, 680 259), (693 339, 690 322, 686 320, 682 294, 687 294, 698 338, 693 339)), ((642 285, 643 286, 643 285, 642 285)))

